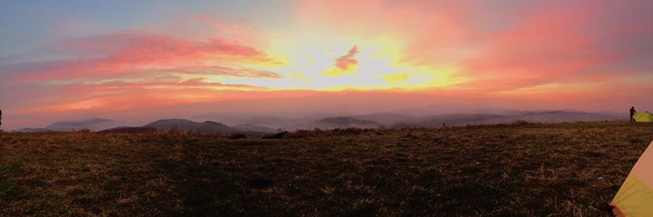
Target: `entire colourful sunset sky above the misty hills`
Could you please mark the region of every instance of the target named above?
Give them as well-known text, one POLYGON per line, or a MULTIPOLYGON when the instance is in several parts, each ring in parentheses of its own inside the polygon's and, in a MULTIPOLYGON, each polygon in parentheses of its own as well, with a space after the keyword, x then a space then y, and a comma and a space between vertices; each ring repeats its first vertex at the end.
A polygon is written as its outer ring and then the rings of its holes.
POLYGON ((653 111, 653 1, 5 1, 3 128, 398 109, 653 111))

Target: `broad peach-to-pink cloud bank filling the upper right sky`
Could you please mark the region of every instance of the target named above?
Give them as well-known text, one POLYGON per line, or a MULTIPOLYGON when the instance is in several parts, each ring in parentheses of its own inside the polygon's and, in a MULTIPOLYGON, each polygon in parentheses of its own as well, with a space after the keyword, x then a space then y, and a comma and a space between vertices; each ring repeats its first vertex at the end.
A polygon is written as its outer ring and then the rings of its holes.
POLYGON ((653 50, 650 1, 298 1, 325 34, 390 35, 404 63, 453 65, 483 93, 643 73, 653 50), (633 62, 639 61, 639 63, 633 62))

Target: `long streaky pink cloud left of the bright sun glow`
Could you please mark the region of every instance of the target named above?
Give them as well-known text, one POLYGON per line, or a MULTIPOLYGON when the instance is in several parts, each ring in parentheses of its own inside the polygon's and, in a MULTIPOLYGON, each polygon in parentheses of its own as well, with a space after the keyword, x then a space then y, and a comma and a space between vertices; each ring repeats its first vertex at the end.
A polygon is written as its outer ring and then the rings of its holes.
POLYGON ((221 38, 191 40, 168 35, 116 33, 77 38, 52 48, 59 61, 15 66, 20 81, 61 80, 152 71, 212 72, 253 78, 281 78, 276 72, 244 68, 244 63, 274 64, 256 48, 221 38))

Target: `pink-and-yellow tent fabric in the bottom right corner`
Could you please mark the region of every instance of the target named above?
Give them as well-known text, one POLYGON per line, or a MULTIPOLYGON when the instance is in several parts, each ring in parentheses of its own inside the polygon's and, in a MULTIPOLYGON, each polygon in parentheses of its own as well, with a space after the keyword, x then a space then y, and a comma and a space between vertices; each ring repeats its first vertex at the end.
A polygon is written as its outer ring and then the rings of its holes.
POLYGON ((622 216, 653 216, 653 142, 639 157, 611 205, 622 216))

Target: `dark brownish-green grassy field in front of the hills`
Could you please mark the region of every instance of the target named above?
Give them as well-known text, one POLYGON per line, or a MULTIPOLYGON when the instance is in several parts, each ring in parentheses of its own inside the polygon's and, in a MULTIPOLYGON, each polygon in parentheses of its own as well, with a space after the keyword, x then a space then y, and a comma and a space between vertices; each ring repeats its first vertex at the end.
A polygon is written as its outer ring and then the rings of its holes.
POLYGON ((653 140, 627 122, 3 133, 0 216, 610 216, 653 140))

